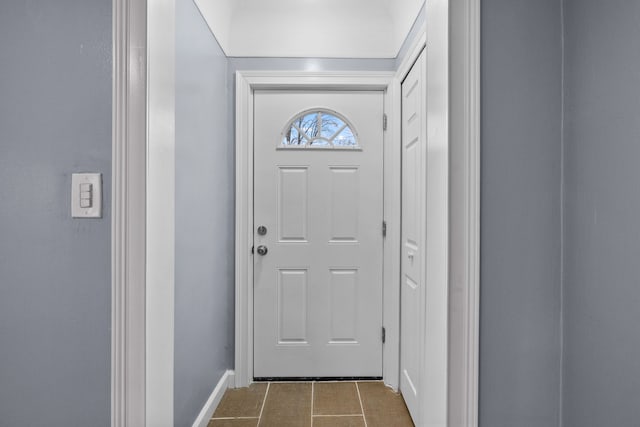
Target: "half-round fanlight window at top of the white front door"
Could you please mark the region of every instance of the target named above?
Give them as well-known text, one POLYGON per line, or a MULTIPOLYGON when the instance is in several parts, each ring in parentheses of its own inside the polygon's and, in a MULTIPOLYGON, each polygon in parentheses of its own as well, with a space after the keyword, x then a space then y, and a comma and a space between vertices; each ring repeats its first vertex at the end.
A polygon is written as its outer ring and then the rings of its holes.
POLYGON ((345 117, 335 111, 314 109, 298 114, 287 123, 280 148, 357 149, 360 144, 345 117))

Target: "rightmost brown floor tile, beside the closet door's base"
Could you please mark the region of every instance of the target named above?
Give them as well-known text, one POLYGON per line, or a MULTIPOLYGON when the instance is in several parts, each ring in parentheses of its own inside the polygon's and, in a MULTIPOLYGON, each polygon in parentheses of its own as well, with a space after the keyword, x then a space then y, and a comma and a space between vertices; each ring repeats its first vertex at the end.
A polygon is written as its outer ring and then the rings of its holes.
POLYGON ((411 416, 399 393, 382 382, 358 383, 367 427, 413 427, 411 416))

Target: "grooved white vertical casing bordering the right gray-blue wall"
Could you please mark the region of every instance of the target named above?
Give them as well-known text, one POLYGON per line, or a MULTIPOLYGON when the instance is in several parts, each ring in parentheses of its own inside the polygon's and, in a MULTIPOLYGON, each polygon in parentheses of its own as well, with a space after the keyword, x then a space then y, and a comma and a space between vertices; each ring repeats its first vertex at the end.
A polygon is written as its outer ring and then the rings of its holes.
POLYGON ((478 426, 480 0, 451 2, 449 426, 478 426))

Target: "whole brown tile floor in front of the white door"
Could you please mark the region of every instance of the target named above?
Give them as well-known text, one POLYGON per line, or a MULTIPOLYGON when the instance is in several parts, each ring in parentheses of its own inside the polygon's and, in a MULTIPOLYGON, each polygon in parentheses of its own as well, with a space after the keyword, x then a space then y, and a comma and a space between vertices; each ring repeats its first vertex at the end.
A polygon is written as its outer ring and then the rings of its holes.
POLYGON ((413 427, 380 381, 254 383, 229 389, 208 427, 413 427))

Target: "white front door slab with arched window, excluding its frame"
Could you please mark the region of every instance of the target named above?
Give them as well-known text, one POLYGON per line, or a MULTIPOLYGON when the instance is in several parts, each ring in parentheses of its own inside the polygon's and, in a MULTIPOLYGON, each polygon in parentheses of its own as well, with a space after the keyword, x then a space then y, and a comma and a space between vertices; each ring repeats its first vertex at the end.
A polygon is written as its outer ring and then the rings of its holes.
POLYGON ((254 108, 254 377, 381 377, 383 93, 254 108))

